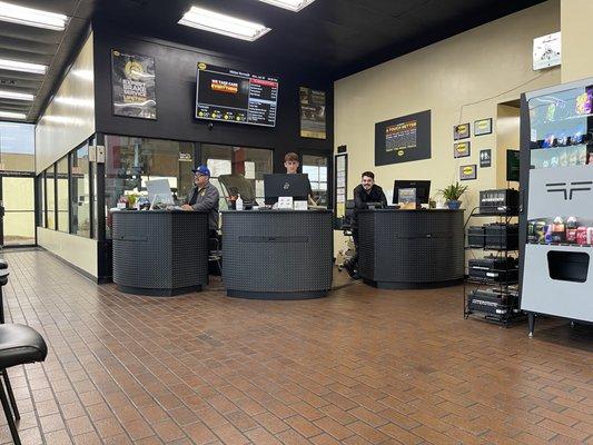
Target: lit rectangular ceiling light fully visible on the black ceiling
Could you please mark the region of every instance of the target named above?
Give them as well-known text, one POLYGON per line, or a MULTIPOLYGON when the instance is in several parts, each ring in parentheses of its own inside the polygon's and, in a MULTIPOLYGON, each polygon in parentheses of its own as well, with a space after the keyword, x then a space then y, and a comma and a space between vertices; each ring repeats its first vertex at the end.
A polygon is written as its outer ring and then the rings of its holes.
POLYGON ((270 30, 259 23, 208 11, 198 7, 191 7, 178 23, 248 41, 257 40, 270 30))

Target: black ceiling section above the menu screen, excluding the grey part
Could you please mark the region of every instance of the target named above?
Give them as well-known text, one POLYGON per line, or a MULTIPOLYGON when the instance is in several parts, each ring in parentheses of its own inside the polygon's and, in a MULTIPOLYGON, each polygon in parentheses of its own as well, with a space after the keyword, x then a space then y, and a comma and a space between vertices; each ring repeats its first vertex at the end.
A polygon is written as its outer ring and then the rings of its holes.
POLYGON ((102 0, 99 10, 123 29, 145 29, 248 60, 271 59, 335 80, 541 2, 316 0, 295 13, 257 0, 102 0), (273 30, 255 42, 245 42, 176 24, 191 4, 273 30))

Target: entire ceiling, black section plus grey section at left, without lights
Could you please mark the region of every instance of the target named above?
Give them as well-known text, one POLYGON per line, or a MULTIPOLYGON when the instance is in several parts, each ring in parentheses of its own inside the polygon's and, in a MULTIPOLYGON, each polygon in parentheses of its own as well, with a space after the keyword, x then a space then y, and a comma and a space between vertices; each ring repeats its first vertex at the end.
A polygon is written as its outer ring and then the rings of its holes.
POLYGON ((50 66, 46 76, 0 70, 0 89, 36 95, 32 105, 0 99, 0 109, 26 112, 34 122, 92 14, 112 32, 148 34, 336 80, 544 0, 316 0, 298 13, 257 0, 8 1, 70 18, 63 32, 0 22, 0 58, 50 66), (177 24, 191 4, 273 30, 245 42, 177 24))

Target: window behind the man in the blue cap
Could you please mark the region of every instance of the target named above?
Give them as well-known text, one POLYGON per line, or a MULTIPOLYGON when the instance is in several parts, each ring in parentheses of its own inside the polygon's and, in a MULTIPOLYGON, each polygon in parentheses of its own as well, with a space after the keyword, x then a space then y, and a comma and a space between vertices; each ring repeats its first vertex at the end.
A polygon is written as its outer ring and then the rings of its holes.
POLYGON ((110 237, 109 209, 122 196, 146 195, 148 180, 168 179, 174 197, 182 201, 192 186, 192 142, 106 136, 106 236, 110 237))

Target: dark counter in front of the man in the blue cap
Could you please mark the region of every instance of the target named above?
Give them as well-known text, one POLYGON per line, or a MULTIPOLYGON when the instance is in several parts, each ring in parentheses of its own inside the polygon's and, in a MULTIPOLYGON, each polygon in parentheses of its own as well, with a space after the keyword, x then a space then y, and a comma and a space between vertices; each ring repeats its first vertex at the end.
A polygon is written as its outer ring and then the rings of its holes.
POLYGON ((121 291, 172 296, 208 283, 208 214, 112 212, 113 283, 121 291))

